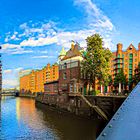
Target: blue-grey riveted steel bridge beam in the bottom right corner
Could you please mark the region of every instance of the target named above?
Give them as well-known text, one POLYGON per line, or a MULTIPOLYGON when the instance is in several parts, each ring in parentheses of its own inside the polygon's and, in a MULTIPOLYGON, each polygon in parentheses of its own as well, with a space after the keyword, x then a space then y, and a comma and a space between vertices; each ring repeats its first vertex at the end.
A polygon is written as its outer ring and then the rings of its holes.
POLYGON ((139 140, 140 82, 126 98, 97 140, 139 140))

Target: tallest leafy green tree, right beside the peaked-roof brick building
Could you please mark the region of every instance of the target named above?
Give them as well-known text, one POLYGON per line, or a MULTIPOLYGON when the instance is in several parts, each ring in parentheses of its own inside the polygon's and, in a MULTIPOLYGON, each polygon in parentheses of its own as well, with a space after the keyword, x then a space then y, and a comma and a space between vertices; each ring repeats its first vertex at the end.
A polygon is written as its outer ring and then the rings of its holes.
POLYGON ((95 90, 96 80, 101 84, 106 83, 109 78, 109 61, 112 53, 103 47, 103 41, 99 34, 87 37, 87 49, 82 61, 82 72, 95 90))

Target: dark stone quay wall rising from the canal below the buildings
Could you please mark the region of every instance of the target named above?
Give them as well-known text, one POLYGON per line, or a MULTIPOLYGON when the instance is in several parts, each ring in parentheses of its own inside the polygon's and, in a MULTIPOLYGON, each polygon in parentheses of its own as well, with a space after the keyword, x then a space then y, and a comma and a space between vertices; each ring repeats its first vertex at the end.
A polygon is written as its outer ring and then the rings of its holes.
MULTIPOLYGON (((111 118, 126 97, 85 96, 92 105, 98 106, 111 118)), ((80 96, 38 94, 36 102, 46 104, 61 111, 73 113, 86 118, 100 118, 93 108, 89 107, 80 96)))

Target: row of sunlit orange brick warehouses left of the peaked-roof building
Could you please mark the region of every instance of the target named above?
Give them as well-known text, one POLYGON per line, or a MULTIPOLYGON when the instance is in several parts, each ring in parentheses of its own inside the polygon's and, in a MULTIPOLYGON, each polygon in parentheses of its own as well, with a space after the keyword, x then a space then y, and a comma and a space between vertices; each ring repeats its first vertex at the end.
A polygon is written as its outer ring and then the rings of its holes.
POLYGON ((40 70, 32 70, 20 77, 20 93, 45 92, 44 84, 58 80, 58 64, 47 64, 40 70))

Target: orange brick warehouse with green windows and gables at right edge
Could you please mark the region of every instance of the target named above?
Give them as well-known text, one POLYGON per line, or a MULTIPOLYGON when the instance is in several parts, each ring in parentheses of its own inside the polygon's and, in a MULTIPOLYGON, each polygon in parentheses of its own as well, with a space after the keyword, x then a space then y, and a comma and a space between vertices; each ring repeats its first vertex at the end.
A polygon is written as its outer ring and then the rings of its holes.
POLYGON ((130 82, 135 74, 135 69, 140 63, 140 43, 138 44, 138 49, 132 44, 130 44, 125 51, 122 50, 122 48, 123 45, 118 43, 117 51, 112 53, 113 57, 111 59, 110 70, 114 78, 115 75, 123 69, 126 78, 130 82))

